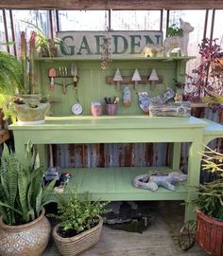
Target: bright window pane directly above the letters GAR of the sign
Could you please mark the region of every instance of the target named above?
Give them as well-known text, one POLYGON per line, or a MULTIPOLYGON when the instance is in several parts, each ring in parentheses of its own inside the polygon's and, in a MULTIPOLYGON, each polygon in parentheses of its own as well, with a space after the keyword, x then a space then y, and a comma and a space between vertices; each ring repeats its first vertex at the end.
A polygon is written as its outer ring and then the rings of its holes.
POLYGON ((108 16, 107 10, 60 10, 60 30, 105 30, 108 16))

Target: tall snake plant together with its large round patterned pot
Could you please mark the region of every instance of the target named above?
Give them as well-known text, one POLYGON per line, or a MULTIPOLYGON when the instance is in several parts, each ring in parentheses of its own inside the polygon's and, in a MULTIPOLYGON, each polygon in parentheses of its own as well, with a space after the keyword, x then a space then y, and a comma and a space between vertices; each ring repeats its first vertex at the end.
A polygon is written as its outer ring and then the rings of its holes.
POLYGON ((0 166, 0 255, 40 256, 48 244, 50 224, 43 206, 54 201, 55 181, 43 187, 43 167, 37 153, 26 147, 24 162, 4 155, 0 166))

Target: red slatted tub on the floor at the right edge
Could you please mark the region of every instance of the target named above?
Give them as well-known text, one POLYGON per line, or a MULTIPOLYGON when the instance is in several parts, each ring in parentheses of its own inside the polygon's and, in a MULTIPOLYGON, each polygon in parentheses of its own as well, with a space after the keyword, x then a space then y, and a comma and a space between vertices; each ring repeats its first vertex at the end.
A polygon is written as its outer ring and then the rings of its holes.
POLYGON ((197 210, 197 244, 213 256, 223 255, 223 221, 197 210))

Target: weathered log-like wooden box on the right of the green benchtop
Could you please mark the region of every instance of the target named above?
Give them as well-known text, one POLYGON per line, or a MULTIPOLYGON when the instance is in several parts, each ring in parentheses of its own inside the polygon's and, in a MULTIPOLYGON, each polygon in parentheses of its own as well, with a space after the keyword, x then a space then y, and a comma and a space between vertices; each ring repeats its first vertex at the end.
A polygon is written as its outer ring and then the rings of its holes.
POLYGON ((183 117, 191 116, 191 102, 181 101, 166 104, 150 103, 149 115, 151 117, 183 117))

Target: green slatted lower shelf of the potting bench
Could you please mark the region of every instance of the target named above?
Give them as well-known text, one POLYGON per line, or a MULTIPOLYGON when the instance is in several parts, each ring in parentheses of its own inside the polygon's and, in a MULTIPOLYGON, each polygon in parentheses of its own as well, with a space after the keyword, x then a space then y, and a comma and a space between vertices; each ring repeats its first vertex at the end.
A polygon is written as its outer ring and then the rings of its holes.
POLYGON ((132 186, 132 180, 136 175, 157 170, 163 173, 173 172, 167 167, 76 168, 63 171, 73 174, 66 190, 72 190, 77 186, 78 193, 90 192, 92 198, 97 200, 185 200, 187 188, 184 183, 177 184, 174 192, 164 188, 150 192, 132 186))

